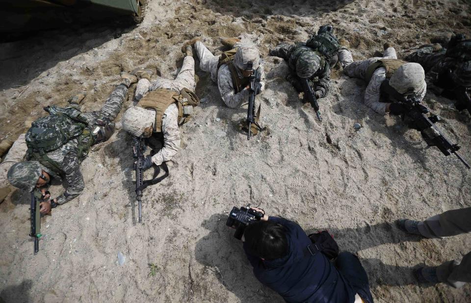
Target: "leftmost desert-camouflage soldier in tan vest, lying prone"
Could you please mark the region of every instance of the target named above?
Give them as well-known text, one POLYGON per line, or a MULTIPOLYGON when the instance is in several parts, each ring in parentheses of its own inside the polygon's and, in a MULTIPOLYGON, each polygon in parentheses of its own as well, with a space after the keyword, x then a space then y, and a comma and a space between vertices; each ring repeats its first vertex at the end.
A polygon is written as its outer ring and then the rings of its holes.
POLYGON ((134 98, 137 106, 123 116, 123 128, 135 137, 146 138, 149 145, 159 149, 145 159, 142 169, 170 161, 180 149, 179 125, 192 116, 193 106, 199 104, 194 95, 195 60, 191 46, 185 46, 183 65, 175 80, 159 77, 151 82, 152 70, 136 70, 141 78, 134 98))

